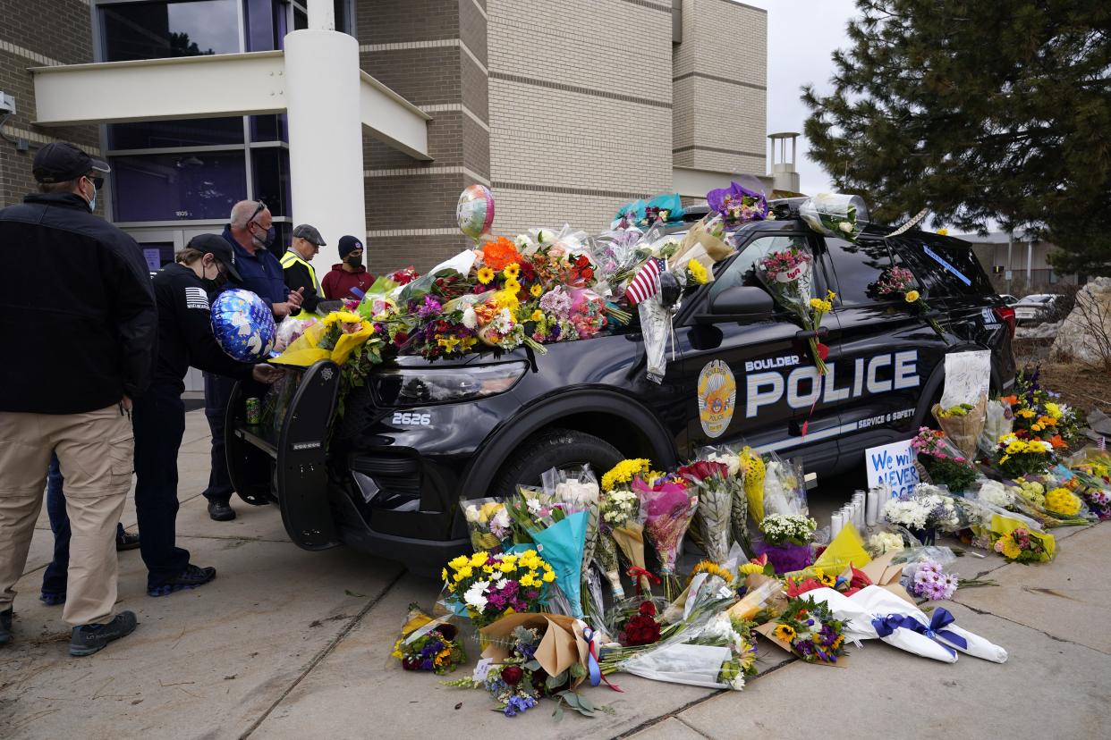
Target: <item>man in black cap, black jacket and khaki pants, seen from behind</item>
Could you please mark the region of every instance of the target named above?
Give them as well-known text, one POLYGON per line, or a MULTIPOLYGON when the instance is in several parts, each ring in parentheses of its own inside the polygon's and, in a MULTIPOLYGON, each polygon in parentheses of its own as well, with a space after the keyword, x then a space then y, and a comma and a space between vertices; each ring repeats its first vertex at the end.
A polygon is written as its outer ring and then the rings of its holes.
POLYGON ((108 165, 52 143, 32 172, 40 192, 0 211, 0 335, 19 342, 0 382, 0 645, 57 453, 72 530, 62 618, 73 626, 70 655, 87 656, 136 627, 133 612, 113 616, 116 525, 131 488, 131 399, 150 384, 158 314, 139 245, 92 215, 108 165))

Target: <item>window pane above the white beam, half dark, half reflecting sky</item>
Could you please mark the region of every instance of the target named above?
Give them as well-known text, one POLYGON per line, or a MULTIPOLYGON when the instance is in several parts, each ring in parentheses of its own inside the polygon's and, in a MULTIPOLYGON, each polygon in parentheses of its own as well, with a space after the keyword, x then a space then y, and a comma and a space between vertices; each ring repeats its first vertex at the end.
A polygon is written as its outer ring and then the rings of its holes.
POLYGON ((237 1, 101 4, 104 60, 119 62, 238 52, 237 1))

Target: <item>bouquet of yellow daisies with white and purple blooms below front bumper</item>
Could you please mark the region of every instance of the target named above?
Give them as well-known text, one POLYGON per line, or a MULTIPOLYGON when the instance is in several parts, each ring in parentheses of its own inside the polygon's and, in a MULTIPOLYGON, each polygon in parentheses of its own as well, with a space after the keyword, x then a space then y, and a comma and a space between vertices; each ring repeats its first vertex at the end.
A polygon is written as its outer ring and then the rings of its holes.
POLYGON ((537 550, 529 549, 519 555, 460 555, 448 562, 441 577, 448 605, 484 627, 507 614, 539 611, 556 572, 537 550))

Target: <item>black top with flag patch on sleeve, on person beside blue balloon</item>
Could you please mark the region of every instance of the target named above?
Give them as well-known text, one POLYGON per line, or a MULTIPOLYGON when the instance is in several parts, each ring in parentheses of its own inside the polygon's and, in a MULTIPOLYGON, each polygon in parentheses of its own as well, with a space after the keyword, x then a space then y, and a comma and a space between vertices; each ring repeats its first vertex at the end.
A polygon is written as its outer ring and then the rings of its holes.
POLYGON ((212 320, 204 283, 184 265, 162 267, 151 281, 158 301, 158 363, 154 383, 181 393, 189 366, 234 378, 251 376, 247 363, 229 357, 212 335, 212 320))

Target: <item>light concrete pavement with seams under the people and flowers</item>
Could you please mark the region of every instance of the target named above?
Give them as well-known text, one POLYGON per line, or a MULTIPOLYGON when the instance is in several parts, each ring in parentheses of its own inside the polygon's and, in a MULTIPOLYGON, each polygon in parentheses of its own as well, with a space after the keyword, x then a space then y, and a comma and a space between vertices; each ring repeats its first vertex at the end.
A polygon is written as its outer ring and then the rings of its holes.
MULTIPOLYGON (((119 606, 136 611, 139 628, 93 657, 70 658, 60 609, 37 600, 51 544, 43 513, 18 586, 16 642, 0 648, 0 736, 1108 737, 1107 525, 1057 530, 1060 555, 1043 566, 958 561, 963 575, 990 571, 1000 587, 961 590, 945 606, 1005 647, 1005 665, 967 656, 935 663, 873 642, 852 649, 851 666, 827 668, 761 642, 762 675, 743 692, 619 676, 623 693, 590 689, 613 714, 554 723, 550 703, 507 719, 480 691, 389 661, 408 605, 430 606, 436 582, 347 549, 300 550, 271 507, 238 503, 238 519, 211 521, 199 495, 208 478, 201 412, 188 414, 179 469, 179 540, 194 562, 218 568, 217 580, 149 598, 139 553, 121 554, 119 606)), ((133 506, 123 521, 134 524, 133 506)))

